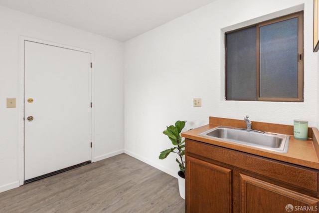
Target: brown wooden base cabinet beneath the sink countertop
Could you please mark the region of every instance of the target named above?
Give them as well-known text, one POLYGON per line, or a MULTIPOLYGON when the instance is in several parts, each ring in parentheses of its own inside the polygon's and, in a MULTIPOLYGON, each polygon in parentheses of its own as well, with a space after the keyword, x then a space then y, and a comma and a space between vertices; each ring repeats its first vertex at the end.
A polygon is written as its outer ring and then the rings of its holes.
POLYGON ((186 139, 185 174, 187 213, 319 212, 315 169, 186 139))

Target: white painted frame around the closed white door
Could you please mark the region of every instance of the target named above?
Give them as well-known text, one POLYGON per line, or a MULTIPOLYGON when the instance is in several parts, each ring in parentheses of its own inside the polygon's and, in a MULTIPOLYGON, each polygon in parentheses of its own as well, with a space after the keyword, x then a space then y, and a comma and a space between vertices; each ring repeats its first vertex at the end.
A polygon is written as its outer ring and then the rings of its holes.
MULTIPOLYGON (((19 112, 19 132, 18 132, 18 179, 19 186, 24 184, 24 41, 37 42, 67 49, 72 49, 91 54, 91 63, 94 64, 94 53, 91 50, 81 49, 60 43, 44 41, 36 38, 20 36, 19 37, 19 95, 17 98, 17 107, 19 112)), ((91 102, 94 103, 94 66, 91 68, 91 102)), ((91 162, 94 162, 94 104, 91 108, 91 162)))

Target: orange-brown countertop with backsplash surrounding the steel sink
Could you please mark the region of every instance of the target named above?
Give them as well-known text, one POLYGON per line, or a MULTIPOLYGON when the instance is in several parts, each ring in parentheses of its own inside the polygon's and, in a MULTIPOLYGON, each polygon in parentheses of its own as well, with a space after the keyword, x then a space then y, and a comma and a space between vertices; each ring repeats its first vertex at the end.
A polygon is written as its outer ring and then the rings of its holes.
POLYGON ((241 152, 250 153, 313 169, 319 169, 319 131, 317 128, 309 128, 308 140, 298 140, 294 138, 293 126, 252 121, 252 129, 290 135, 290 142, 287 153, 268 151, 260 148, 225 142, 222 140, 198 135, 199 133, 205 132, 217 126, 245 128, 245 125, 246 124, 244 120, 210 117, 209 124, 183 132, 181 133, 181 136, 187 139, 192 139, 207 144, 238 150, 241 152))

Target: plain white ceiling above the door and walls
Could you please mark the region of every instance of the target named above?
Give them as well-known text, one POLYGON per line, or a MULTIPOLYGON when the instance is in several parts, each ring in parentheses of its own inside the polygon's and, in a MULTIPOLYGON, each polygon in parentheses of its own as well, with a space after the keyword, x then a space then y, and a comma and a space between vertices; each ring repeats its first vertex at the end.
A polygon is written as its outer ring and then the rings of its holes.
POLYGON ((0 0, 0 5, 126 41, 216 0, 0 0))

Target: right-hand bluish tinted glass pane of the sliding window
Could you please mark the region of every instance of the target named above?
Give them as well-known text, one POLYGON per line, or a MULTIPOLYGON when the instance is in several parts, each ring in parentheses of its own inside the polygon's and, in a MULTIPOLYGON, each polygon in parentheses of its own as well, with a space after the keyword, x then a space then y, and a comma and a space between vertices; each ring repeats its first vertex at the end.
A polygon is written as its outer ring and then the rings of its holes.
POLYGON ((298 98, 298 18, 260 27, 260 97, 298 98))

